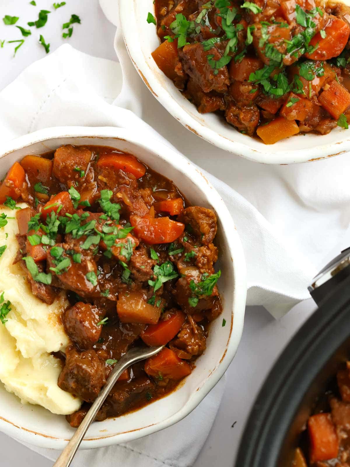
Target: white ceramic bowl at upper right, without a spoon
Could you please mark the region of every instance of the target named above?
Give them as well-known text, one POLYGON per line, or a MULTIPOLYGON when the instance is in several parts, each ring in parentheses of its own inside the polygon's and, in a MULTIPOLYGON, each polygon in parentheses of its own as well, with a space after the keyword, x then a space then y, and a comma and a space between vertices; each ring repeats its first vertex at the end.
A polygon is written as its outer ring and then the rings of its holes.
POLYGON ((151 53, 159 39, 154 24, 146 21, 154 12, 153 0, 119 0, 121 32, 136 70, 148 89, 176 120, 218 148, 255 162, 291 164, 337 156, 350 150, 350 130, 337 127, 324 136, 296 135, 273 145, 239 133, 222 115, 201 114, 185 99, 154 62, 151 53))

